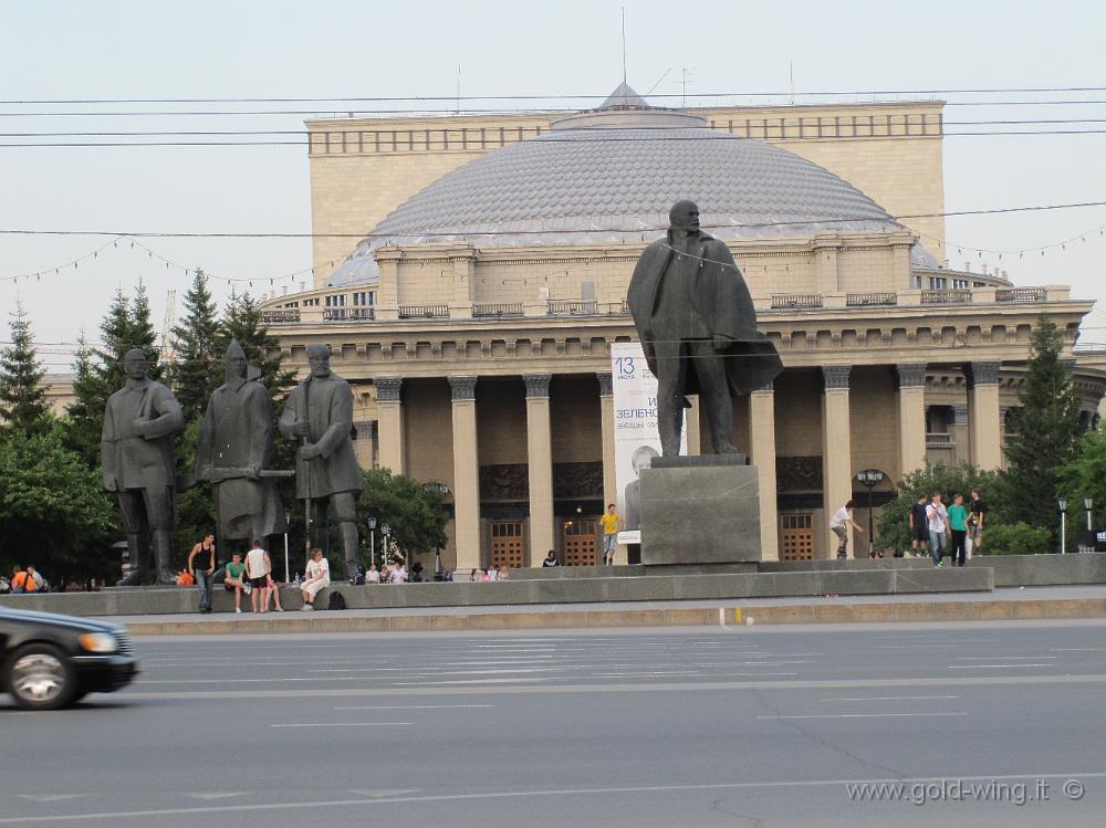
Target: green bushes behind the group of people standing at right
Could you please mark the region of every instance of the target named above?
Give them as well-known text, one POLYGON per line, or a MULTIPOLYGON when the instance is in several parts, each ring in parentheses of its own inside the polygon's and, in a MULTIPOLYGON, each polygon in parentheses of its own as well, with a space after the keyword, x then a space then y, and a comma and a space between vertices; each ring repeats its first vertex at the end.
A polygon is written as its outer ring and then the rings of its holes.
MULTIPOLYGON (((997 472, 983 471, 971 463, 959 465, 937 463, 910 472, 898 483, 898 497, 879 510, 879 520, 876 523, 876 545, 885 549, 909 549, 910 507, 918 502, 919 496, 940 492, 941 500, 948 505, 952 503, 953 495, 962 494, 967 507, 971 501, 972 489, 979 490, 980 496, 987 504, 988 518, 993 512, 1001 510, 1002 501, 997 472)), ((991 521, 988 520, 988 530, 990 526, 991 521)), ((988 533, 988 537, 990 537, 990 533, 988 533)), ((988 546, 990 547, 990 543, 988 546)))

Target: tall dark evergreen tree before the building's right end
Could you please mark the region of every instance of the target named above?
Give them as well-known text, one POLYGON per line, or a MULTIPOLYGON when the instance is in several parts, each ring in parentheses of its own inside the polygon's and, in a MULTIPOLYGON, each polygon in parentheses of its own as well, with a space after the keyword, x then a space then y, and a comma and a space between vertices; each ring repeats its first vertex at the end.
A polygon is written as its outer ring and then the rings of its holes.
POLYGON ((1064 335, 1044 316, 1033 332, 1032 349, 1018 395, 1021 407, 1010 412, 1013 436, 1006 444, 1003 522, 1051 530, 1056 524, 1060 472, 1075 458, 1083 426, 1079 397, 1062 358, 1064 335))

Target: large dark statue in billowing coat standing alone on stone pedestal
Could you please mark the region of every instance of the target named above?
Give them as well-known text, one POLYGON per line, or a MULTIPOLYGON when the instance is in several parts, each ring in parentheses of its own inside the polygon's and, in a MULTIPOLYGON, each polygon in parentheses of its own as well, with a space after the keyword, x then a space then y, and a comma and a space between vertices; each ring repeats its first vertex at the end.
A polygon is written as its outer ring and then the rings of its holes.
POLYGON ((699 208, 677 201, 669 218, 667 238, 638 259, 627 296, 657 377, 661 453, 679 454, 686 394, 700 395, 713 453, 735 453, 731 392, 764 387, 783 364, 757 331, 752 297, 730 249, 699 229, 699 208))

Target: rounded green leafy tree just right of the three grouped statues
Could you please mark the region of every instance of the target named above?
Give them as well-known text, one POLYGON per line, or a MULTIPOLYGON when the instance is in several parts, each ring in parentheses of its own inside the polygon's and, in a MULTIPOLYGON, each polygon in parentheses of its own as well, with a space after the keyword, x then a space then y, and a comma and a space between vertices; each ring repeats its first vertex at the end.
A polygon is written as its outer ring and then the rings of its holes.
POLYGON ((357 501, 357 525, 362 558, 368 560, 369 516, 376 517, 377 562, 383 551, 380 527, 392 527, 392 539, 405 555, 420 555, 446 545, 449 515, 442 504, 445 494, 435 483, 419 483, 388 469, 363 472, 365 488, 357 501))

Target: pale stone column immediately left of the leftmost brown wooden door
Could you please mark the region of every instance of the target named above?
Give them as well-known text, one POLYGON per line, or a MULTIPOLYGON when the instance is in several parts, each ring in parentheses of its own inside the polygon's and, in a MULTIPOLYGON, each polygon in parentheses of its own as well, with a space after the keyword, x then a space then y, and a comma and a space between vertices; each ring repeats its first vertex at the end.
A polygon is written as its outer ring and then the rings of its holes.
POLYGON ((477 378, 450 377, 453 419, 453 531, 457 572, 480 566, 480 455, 477 378))

